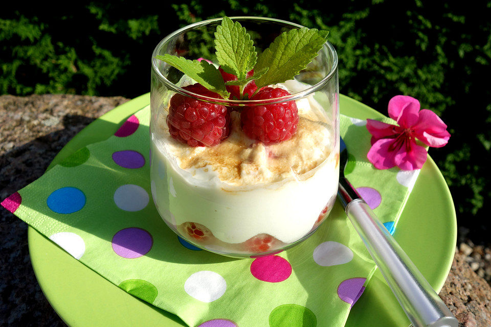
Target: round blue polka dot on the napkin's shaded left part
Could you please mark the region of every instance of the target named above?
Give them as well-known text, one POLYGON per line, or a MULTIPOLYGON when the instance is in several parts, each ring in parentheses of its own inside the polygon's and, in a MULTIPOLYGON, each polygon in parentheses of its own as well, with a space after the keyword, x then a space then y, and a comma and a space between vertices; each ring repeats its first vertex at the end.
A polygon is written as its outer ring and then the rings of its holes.
POLYGON ((50 194, 48 207, 58 214, 72 214, 85 205, 85 194, 77 188, 61 188, 50 194))

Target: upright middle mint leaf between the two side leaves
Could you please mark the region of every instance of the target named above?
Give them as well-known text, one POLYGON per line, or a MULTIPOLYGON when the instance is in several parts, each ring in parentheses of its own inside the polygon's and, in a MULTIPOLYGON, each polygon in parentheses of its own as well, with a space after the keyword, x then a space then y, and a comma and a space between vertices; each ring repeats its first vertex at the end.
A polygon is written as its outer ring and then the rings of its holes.
POLYGON ((238 80, 244 80, 257 60, 253 43, 249 33, 238 21, 233 22, 229 17, 224 17, 215 32, 216 57, 221 68, 236 75, 238 80))

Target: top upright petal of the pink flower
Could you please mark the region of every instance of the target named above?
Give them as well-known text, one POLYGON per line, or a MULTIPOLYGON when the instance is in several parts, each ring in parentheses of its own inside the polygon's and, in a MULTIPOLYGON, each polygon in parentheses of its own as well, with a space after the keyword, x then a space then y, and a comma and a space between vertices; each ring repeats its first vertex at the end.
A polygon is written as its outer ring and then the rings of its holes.
POLYGON ((395 96, 389 101, 389 116, 402 128, 409 128, 419 119, 419 101, 413 97, 395 96))

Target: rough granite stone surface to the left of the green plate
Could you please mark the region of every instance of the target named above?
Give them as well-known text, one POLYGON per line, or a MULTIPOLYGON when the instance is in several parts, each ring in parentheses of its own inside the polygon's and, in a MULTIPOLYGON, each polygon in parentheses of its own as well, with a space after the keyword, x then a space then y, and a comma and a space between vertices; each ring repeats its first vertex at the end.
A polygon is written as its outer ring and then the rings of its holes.
MULTIPOLYGON (((122 97, 0 96, 0 201, 40 177, 83 127, 122 97)), ((29 259, 27 224, 0 208, 0 326, 64 326, 29 259)))

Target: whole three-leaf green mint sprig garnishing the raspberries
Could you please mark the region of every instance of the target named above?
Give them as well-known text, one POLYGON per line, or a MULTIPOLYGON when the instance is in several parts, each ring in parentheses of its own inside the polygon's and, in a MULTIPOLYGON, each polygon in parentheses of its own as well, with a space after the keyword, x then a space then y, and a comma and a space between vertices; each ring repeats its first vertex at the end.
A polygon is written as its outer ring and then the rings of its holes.
POLYGON ((257 90, 263 86, 283 83, 293 79, 317 57, 327 40, 327 31, 306 27, 289 30, 279 35, 273 43, 257 55, 254 42, 238 21, 228 17, 222 19, 215 32, 216 57, 221 68, 237 76, 237 81, 224 82, 220 71, 205 60, 187 60, 184 57, 165 54, 155 58, 163 60, 202 84, 207 89, 228 99, 227 86, 238 85, 243 100, 243 90, 251 80, 255 80, 257 90), (254 69, 254 75, 247 73, 254 69))

